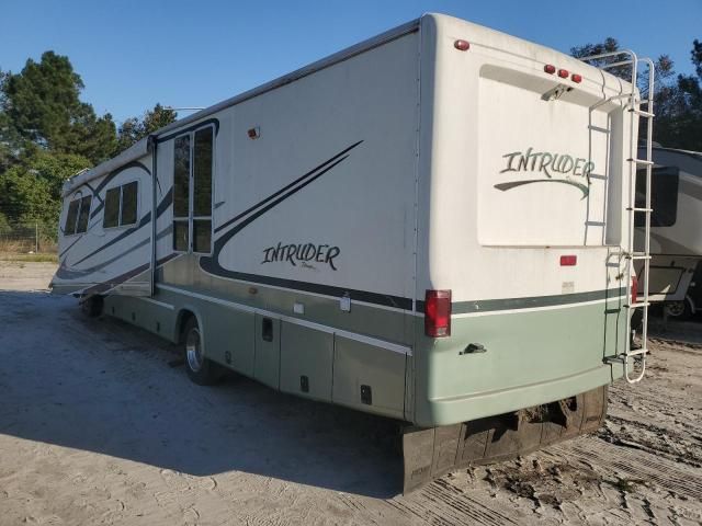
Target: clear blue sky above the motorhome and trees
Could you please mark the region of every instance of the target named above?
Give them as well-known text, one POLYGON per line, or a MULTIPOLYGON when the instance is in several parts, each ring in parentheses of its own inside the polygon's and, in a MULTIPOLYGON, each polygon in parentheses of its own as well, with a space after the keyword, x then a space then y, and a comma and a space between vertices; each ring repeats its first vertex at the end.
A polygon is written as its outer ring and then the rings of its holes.
POLYGON ((120 124, 157 102, 212 105, 426 12, 564 53, 613 36, 682 73, 702 39, 702 0, 2 0, 0 69, 67 55, 82 100, 120 124))

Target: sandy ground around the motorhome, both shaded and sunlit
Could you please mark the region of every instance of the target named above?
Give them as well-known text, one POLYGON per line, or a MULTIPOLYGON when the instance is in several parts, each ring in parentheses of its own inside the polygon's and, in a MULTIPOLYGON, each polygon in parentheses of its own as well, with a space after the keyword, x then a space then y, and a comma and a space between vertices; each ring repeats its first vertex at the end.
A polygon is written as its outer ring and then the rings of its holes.
POLYGON ((702 523, 700 345, 654 341, 598 434, 398 496, 385 421, 194 386, 169 344, 36 290, 50 272, 0 265, 1 525, 702 523))

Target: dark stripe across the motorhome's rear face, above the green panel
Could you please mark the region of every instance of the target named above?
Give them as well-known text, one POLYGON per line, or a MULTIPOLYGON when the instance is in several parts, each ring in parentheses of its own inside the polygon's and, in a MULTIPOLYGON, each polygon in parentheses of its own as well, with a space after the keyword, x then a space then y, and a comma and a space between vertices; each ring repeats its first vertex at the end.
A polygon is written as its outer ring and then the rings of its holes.
MULTIPOLYGON (((598 299, 618 298, 626 295, 625 288, 591 290, 588 293, 558 294, 554 296, 534 296, 529 298, 480 299, 473 301, 455 301, 451 304, 451 313, 465 315, 473 312, 492 312, 496 310, 531 309, 534 307, 553 307, 557 305, 582 304, 598 299)), ((424 301, 417 301, 417 312, 424 311, 424 301)))

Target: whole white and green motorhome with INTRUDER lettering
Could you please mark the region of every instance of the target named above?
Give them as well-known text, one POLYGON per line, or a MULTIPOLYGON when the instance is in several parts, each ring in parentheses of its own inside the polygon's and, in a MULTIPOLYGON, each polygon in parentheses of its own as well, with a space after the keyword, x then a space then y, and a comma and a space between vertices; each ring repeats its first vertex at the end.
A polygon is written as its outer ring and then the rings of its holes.
POLYGON ((69 180, 53 289, 182 344, 199 384, 401 421, 409 491, 595 431, 607 385, 641 378, 645 104, 427 14, 69 180))

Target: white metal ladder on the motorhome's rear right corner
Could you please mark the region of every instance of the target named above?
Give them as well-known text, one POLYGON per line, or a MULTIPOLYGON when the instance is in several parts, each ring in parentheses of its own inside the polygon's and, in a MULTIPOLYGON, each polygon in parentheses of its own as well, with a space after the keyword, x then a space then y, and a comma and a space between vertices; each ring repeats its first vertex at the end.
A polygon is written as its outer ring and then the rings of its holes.
MULTIPOLYGON (((616 356, 612 356, 607 358, 608 362, 620 362, 624 366, 624 378, 630 384, 635 384, 639 381, 644 374, 646 373, 646 355, 648 354, 648 274, 650 266, 650 213, 653 211, 650 207, 650 179, 653 171, 653 126, 654 126, 654 77, 655 77, 655 67, 654 62, 650 58, 638 58, 634 52, 624 49, 620 52, 613 53, 603 53, 600 55, 592 55, 589 57, 584 57, 581 60, 590 61, 590 60, 601 60, 607 58, 615 58, 620 57, 622 59, 610 61, 604 65, 598 66, 600 69, 610 69, 620 66, 629 66, 631 67, 631 92, 621 93, 619 95, 613 95, 602 101, 601 104, 604 104, 609 101, 613 100, 624 100, 626 102, 626 110, 632 114, 631 115, 631 130, 630 130, 630 147, 629 147, 629 158, 626 161, 629 162, 629 182, 630 182, 630 192, 629 192, 629 203, 626 206, 627 220, 629 220, 629 237, 626 240, 626 247, 623 250, 623 256, 626 259, 626 283, 632 287, 636 287, 638 289, 637 283, 634 283, 635 276, 635 263, 637 261, 643 262, 642 274, 643 274, 643 298, 636 301, 632 301, 633 295, 627 295, 626 300, 626 343, 623 353, 620 353, 616 356), (645 100, 639 100, 636 93, 636 87, 638 81, 638 72, 639 72, 639 64, 643 62, 648 67, 648 93, 645 100), (645 107, 644 107, 645 106, 645 107), (646 157, 645 159, 638 158, 638 144, 634 139, 637 137, 637 130, 635 129, 636 119, 634 115, 637 115, 638 118, 646 119, 646 157), (636 207, 636 172, 639 167, 644 167, 646 170, 646 181, 645 181, 645 199, 643 207, 636 207), (644 247, 643 251, 636 251, 634 247, 634 229, 636 225, 636 214, 644 215, 644 247), (641 309, 642 310, 642 331, 641 331, 641 347, 634 347, 634 338, 632 332, 632 316, 634 312, 641 309), (630 338, 631 335, 631 338, 630 338), (638 370, 636 370, 636 365, 638 364, 638 370)), ((599 104, 598 104, 599 105, 599 104)))

